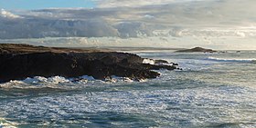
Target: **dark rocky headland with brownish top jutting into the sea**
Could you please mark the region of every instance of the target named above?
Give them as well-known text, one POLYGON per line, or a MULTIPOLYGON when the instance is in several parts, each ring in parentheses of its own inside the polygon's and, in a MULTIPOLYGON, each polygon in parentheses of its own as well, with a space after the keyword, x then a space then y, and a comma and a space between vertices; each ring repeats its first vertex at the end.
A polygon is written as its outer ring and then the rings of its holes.
POLYGON ((144 58, 136 54, 108 50, 0 44, 0 82, 56 75, 63 77, 91 75, 101 80, 112 75, 146 79, 160 75, 152 70, 176 69, 176 64, 167 64, 168 62, 165 61, 162 61, 165 64, 143 62, 144 58))

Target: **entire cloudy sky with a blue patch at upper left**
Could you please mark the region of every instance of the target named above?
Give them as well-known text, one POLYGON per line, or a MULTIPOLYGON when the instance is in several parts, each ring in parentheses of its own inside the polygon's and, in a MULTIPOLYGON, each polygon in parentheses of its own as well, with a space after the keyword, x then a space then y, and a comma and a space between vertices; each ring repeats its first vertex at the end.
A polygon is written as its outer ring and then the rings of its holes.
POLYGON ((256 49, 255 0, 0 0, 0 43, 256 49))

